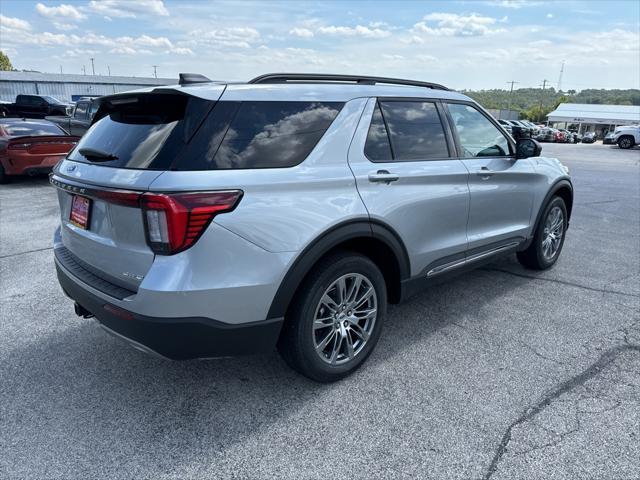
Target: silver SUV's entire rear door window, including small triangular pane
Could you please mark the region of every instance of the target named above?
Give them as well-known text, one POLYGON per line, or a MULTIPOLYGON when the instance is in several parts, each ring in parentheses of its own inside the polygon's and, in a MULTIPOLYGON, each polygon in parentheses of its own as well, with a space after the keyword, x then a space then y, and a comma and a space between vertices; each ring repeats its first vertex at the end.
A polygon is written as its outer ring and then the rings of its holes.
POLYGON ((444 127, 434 102, 379 101, 371 120, 365 143, 365 154, 371 161, 449 158, 444 127))

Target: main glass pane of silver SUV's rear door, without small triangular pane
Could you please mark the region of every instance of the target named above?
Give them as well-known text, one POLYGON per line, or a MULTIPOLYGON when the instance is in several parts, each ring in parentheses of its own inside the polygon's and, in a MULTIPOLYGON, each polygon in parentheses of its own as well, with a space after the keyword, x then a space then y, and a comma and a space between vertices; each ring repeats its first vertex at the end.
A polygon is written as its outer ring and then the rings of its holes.
POLYGON ((433 102, 380 102, 395 160, 449 156, 440 115, 433 102))

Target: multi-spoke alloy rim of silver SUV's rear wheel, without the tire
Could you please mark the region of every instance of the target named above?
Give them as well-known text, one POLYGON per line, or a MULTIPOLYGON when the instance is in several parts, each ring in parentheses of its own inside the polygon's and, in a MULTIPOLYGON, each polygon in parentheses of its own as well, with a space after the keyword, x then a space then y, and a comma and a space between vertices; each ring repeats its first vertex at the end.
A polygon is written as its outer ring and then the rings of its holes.
POLYGON ((359 273, 335 280, 322 295, 313 319, 313 346, 323 362, 345 364, 371 337, 378 315, 373 284, 359 273))

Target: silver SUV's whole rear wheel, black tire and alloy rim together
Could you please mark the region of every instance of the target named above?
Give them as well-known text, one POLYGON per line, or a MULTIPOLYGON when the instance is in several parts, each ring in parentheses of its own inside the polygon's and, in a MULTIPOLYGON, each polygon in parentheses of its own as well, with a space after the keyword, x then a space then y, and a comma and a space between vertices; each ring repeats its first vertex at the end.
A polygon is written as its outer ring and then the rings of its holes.
POLYGON ((333 382, 356 370, 382 330, 387 292, 369 258, 353 252, 318 263, 287 314, 278 350, 294 370, 333 382))

